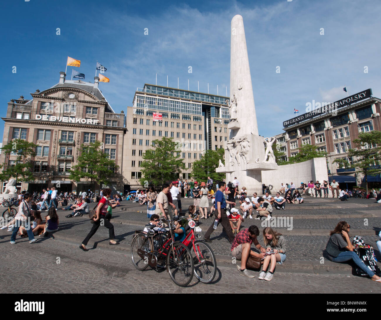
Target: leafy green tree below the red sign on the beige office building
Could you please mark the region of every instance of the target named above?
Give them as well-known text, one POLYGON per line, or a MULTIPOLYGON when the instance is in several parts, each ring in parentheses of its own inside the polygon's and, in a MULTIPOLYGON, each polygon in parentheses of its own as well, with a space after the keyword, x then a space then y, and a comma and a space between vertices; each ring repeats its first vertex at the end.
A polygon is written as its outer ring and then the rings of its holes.
POLYGON ((142 178, 139 181, 146 186, 147 182, 162 185, 168 180, 176 179, 184 168, 184 162, 177 155, 181 149, 173 138, 154 140, 153 145, 153 149, 143 154, 144 161, 141 163, 142 178))

